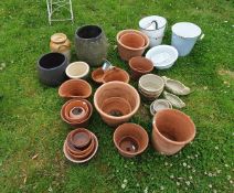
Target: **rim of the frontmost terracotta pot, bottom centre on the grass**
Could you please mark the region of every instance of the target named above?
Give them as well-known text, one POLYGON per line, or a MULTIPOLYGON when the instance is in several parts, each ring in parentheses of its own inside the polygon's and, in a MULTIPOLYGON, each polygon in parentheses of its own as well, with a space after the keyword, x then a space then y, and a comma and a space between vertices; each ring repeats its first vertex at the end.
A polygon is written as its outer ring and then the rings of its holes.
MULTIPOLYGON (((126 137, 129 137, 129 136, 126 136, 126 137)), ((118 126, 118 127, 116 128, 114 135, 113 135, 113 140, 114 140, 114 143, 115 143, 116 148, 117 148, 119 151, 124 152, 125 154, 129 154, 129 156, 137 156, 137 154, 142 153, 142 152, 147 149, 147 147, 148 147, 148 144, 149 144, 149 136, 148 136, 146 129, 143 129, 140 125, 137 125, 137 124, 134 124, 134 122, 125 122, 125 124, 121 124, 120 126, 118 126), (131 153, 131 152, 128 152, 128 151, 124 151, 124 150, 121 150, 121 149, 119 148, 119 146, 118 146, 118 143, 117 143, 117 141, 116 141, 116 133, 117 133, 117 131, 118 131, 118 128, 120 128, 120 127, 123 127, 123 126, 125 126, 125 125, 128 125, 128 126, 129 126, 129 125, 132 125, 132 126, 135 126, 137 129, 142 129, 142 130, 143 130, 143 135, 147 136, 146 146, 145 146, 140 151, 137 151, 137 152, 131 153)))

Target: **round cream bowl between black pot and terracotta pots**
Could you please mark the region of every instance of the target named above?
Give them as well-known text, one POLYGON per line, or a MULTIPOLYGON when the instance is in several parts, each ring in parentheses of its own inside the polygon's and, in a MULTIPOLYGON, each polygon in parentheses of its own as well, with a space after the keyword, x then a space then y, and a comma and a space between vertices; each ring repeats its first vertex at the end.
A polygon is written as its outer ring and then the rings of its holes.
POLYGON ((66 67, 66 76, 72 79, 86 78, 89 73, 89 65, 85 62, 74 62, 66 67))

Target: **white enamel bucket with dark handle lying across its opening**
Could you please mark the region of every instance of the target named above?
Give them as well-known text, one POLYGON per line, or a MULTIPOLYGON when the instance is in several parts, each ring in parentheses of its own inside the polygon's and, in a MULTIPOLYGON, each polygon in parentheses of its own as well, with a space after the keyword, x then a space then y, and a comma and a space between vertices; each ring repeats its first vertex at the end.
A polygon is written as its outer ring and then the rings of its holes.
POLYGON ((149 37, 149 46, 153 47, 162 43, 167 20, 162 17, 151 15, 139 21, 139 29, 149 37))

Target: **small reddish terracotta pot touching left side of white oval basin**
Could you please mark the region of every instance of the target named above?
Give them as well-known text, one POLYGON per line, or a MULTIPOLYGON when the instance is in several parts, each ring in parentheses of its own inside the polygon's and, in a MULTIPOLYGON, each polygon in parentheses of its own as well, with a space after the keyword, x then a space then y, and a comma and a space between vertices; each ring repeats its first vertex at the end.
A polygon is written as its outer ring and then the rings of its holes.
POLYGON ((134 79, 139 78, 140 76, 152 72, 153 64, 150 60, 141 56, 132 57, 129 61, 129 66, 131 69, 131 77, 134 79))

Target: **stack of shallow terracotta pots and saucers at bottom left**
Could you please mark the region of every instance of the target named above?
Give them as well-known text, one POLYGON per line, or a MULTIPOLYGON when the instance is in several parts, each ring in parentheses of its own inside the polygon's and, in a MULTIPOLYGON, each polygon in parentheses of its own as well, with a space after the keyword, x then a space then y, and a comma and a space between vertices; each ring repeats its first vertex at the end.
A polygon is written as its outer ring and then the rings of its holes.
POLYGON ((95 156, 97 148, 97 137, 87 129, 78 128, 68 133, 63 150, 70 161, 83 163, 95 156))

